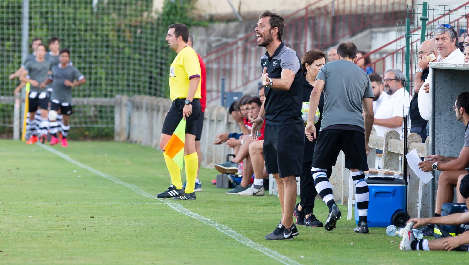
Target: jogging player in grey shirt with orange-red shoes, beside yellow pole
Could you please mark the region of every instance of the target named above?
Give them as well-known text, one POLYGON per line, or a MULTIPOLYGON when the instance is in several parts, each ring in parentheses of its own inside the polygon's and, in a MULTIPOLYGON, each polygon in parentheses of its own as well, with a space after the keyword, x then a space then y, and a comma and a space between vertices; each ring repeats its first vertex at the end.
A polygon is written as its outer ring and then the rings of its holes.
POLYGON ((47 80, 47 73, 51 69, 50 61, 44 59, 45 45, 38 44, 36 46, 36 59, 28 61, 20 76, 20 81, 30 83, 29 93, 29 119, 27 120, 27 127, 30 130, 31 137, 26 144, 34 144, 38 141, 37 134, 40 135, 41 143, 44 143, 47 135, 47 128, 49 127, 49 120, 47 119, 47 107, 49 99, 47 92, 43 89, 45 81, 47 80), (42 88, 41 88, 42 87, 42 88), (39 131, 36 132, 36 123, 34 115, 36 111, 41 111, 41 122, 39 124, 39 131))

